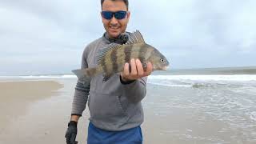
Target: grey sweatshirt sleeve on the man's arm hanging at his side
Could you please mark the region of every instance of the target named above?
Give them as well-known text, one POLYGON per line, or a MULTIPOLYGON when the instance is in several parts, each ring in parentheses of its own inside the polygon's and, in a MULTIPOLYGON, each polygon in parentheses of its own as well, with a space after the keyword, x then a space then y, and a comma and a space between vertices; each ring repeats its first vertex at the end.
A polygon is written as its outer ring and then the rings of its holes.
MULTIPOLYGON (((87 47, 82 54, 82 65, 81 68, 85 69, 88 67, 88 63, 86 61, 87 47)), ((71 115, 82 116, 82 112, 86 109, 86 103, 88 99, 88 95, 90 92, 90 82, 77 82, 77 85, 74 89, 74 98, 72 103, 72 111, 71 115)))

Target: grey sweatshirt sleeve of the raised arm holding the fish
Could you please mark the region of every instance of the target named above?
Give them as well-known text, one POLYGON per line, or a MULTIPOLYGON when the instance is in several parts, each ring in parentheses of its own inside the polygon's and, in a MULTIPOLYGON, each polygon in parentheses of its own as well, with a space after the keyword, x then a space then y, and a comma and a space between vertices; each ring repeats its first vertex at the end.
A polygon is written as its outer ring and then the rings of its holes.
POLYGON ((146 81, 147 77, 139 78, 131 82, 123 82, 120 76, 120 82, 122 83, 122 94, 130 100, 130 102, 141 102, 146 96, 146 81))

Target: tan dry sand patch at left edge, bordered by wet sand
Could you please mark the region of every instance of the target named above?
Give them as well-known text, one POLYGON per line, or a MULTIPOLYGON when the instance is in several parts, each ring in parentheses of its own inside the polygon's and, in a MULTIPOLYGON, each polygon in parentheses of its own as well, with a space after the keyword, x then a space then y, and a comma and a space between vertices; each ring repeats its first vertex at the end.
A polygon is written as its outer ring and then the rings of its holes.
POLYGON ((10 118, 25 114, 31 102, 48 98, 61 87, 54 81, 0 82, 0 129, 10 122, 10 118))

